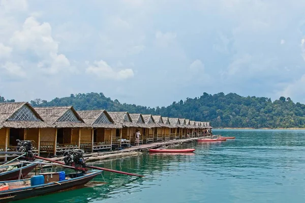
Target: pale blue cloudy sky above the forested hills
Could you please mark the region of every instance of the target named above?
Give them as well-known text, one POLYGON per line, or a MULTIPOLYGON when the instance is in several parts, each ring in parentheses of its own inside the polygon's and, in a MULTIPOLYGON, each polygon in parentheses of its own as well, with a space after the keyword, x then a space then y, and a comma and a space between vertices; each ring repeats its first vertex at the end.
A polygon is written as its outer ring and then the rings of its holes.
POLYGON ((0 95, 305 103, 303 0, 0 0, 0 95))

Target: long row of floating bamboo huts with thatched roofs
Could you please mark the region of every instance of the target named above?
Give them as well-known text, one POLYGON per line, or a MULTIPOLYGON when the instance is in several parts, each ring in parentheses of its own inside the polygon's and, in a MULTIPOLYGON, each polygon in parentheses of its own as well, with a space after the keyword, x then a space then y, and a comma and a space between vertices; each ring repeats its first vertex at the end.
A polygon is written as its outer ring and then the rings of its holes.
POLYGON ((147 144, 208 136, 210 128, 208 122, 181 118, 0 103, 0 151, 14 150, 16 140, 31 140, 39 155, 56 155, 74 148, 93 152, 134 145, 137 130, 141 133, 140 144, 147 144))

